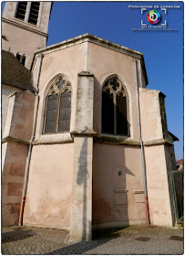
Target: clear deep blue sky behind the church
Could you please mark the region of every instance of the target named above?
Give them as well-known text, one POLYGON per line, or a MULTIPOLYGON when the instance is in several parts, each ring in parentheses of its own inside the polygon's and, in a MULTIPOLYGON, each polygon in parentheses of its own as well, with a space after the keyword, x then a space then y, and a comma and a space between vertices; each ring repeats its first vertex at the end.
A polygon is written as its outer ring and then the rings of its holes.
MULTIPOLYGON (((154 8, 152 8, 154 9, 154 8)), ((183 157, 183 2, 54 2, 47 46, 67 38, 90 33, 103 37, 144 54, 148 73, 148 89, 162 91, 165 99, 168 128, 179 139, 175 142, 176 159, 183 157), (161 15, 161 23, 176 31, 132 31, 140 27, 142 19, 151 25, 147 9, 128 5, 180 5, 168 8, 161 15)))

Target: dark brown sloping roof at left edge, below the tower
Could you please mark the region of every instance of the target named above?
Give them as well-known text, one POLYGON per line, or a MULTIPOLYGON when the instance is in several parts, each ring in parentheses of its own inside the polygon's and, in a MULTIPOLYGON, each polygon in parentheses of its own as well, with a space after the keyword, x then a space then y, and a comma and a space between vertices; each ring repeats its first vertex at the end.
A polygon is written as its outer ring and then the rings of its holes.
POLYGON ((5 50, 2 50, 2 84, 25 91, 36 91, 32 73, 15 58, 13 53, 5 50))

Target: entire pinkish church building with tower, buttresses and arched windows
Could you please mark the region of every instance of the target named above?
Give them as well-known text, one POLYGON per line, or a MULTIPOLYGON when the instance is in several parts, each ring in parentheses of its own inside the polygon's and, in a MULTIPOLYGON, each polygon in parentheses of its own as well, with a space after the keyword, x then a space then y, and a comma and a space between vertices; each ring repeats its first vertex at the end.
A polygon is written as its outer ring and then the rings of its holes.
MULTIPOLYGON (((62 3, 61 3, 62 5, 62 3)), ((175 223, 165 95, 143 54, 90 34, 46 47, 51 2, 5 2, 2 225, 175 223)))

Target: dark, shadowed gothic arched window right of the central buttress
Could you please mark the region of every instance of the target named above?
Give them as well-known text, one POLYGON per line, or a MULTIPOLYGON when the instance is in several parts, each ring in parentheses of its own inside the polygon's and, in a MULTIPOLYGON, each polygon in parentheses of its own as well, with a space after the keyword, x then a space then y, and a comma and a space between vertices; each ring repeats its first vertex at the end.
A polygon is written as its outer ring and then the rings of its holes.
POLYGON ((117 77, 109 79, 103 87, 102 133, 129 135, 128 94, 117 77))

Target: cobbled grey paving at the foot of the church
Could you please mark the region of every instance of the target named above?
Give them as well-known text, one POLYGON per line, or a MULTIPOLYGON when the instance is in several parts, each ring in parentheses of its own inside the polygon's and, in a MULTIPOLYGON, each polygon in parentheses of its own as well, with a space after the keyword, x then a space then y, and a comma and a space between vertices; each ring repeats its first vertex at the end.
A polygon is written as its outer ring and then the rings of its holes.
POLYGON ((183 254, 183 230, 132 226, 93 232, 92 241, 69 243, 59 229, 2 229, 1 252, 7 254, 183 254))

